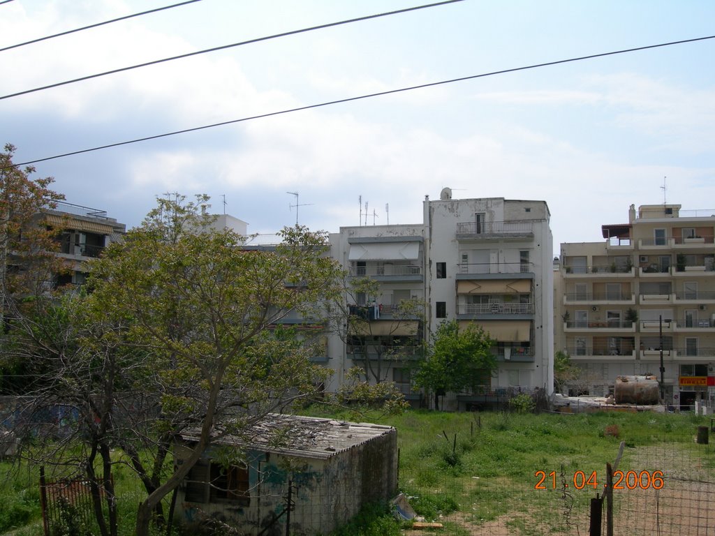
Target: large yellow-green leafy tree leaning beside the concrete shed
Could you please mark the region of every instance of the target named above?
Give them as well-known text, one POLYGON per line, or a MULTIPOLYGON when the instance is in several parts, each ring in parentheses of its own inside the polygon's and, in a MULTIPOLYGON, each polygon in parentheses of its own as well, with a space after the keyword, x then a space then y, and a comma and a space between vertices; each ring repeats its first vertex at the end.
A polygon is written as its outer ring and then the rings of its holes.
POLYGON ((142 226, 91 269, 92 310, 124 322, 122 341, 151 363, 141 388, 159 401, 150 433, 146 425, 124 430, 129 435, 119 445, 149 482, 137 442, 163 467, 182 430, 197 434, 186 462, 150 482, 137 514, 139 536, 212 442, 241 437, 270 412, 316 394, 327 374, 309 362, 310 340, 277 328, 292 310, 321 322, 321 304, 340 273, 323 255, 325 235, 296 226, 284 229, 275 251, 247 250, 243 237, 209 228, 206 203, 159 199, 142 226))

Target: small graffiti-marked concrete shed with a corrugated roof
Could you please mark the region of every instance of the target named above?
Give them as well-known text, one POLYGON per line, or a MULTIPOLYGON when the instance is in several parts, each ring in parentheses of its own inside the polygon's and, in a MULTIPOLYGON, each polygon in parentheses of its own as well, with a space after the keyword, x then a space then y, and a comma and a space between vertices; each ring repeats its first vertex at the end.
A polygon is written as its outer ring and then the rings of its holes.
MULTIPOLYGON (((177 465, 196 440, 190 431, 182 435, 177 465)), ((270 415, 204 452, 179 487, 177 515, 189 525, 222 523, 247 535, 325 534, 364 505, 390 500, 397 485, 393 427, 270 415)))

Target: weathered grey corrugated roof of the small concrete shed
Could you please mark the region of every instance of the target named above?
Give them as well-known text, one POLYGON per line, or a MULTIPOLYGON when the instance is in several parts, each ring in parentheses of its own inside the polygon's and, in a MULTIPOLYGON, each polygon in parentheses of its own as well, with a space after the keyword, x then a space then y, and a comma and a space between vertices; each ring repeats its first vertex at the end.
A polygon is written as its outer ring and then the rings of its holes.
MULTIPOLYGON (((391 426, 347 422, 300 415, 269 415, 240 436, 226 435, 218 445, 236 445, 296 457, 327 459, 365 442, 395 432, 391 426), (278 440, 280 437, 280 440, 278 440)), ((182 434, 197 441, 199 429, 182 434)))

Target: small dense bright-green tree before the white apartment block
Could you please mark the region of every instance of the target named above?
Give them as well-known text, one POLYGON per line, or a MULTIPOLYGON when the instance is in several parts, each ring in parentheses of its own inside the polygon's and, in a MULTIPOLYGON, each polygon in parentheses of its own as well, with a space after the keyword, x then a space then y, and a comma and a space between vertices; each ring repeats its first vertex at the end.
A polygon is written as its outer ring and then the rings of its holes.
POLYGON ((438 409, 440 394, 462 392, 488 382, 496 368, 492 346, 493 340, 478 325, 470 323, 460 329, 456 320, 445 320, 432 337, 415 382, 434 392, 438 409))

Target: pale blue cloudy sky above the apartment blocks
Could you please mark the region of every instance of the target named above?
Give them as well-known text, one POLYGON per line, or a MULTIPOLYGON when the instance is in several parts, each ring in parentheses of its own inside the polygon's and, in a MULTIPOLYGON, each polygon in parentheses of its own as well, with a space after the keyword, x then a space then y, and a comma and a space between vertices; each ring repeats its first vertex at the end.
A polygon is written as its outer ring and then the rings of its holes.
MULTIPOLYGON (((9 1, 0 4, 0 48, 178 1, 9 1)), ((196 1, 0 51, 0 96, 420 5, 196 1)), ((0 99, 0 142, 16 146, 15 162, 30 162, 381 91, 711 36, 713 21, 711 0, 463 0, 0 99)), ((601 241, 601 225, 627 222, 631 204, 715 213, 714 65, 715 39, 707 39, 34 166, 36 177, 54 177, 67 202, 106 210, 128 228, 164 192, 209 194, 213 212, 244 220, 251 233, 276 232, 296 217, 328 232, 421 223, 425 196, 439 199, 443 187, 455 199, 538 199, 551 210, 558 253, 561 242, 601 241)))

